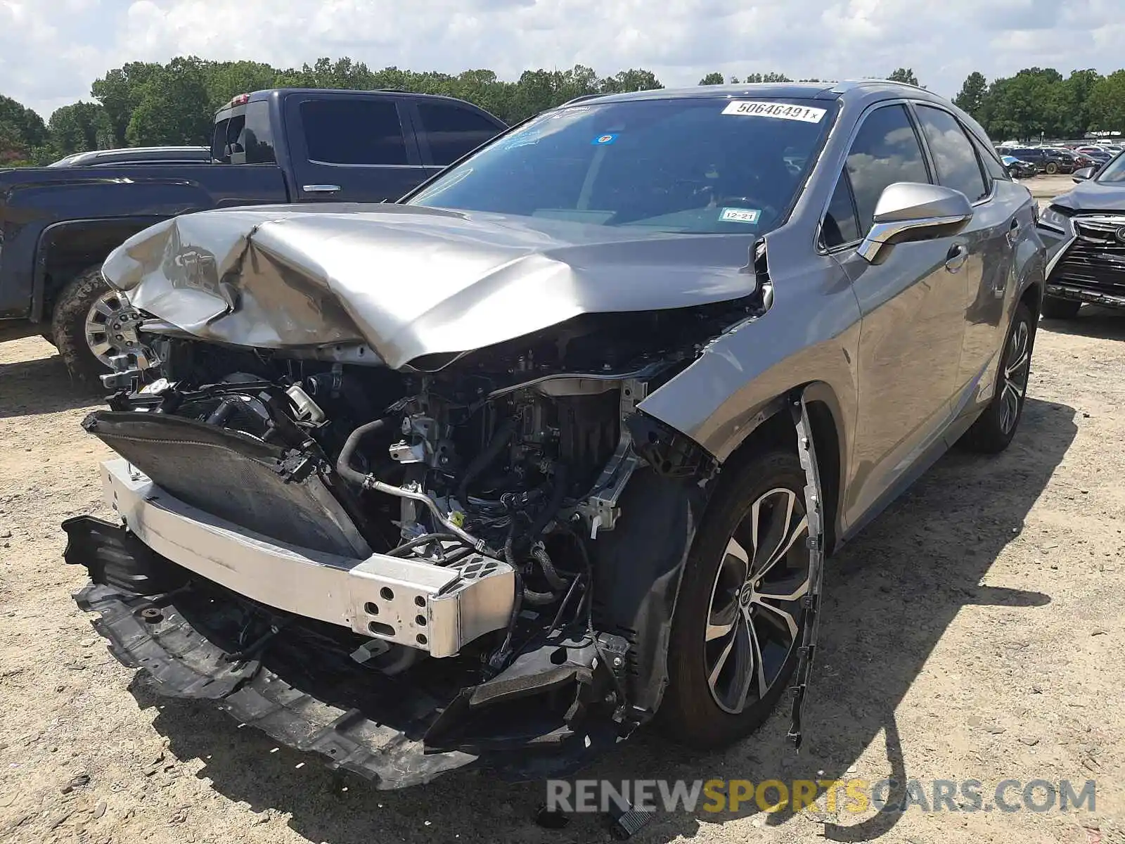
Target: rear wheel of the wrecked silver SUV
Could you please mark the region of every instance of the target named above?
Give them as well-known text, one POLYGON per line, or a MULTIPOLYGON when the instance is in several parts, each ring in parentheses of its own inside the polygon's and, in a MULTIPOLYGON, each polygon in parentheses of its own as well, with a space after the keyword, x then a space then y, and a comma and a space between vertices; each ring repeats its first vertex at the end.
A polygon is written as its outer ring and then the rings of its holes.
POLYGON ((1034 349, 1035 317, 1030 308, 1020 303, 1004 340, 992 401, 961 438, 965 448, 986 455, 1008 448, 1024 414, 1034 349))

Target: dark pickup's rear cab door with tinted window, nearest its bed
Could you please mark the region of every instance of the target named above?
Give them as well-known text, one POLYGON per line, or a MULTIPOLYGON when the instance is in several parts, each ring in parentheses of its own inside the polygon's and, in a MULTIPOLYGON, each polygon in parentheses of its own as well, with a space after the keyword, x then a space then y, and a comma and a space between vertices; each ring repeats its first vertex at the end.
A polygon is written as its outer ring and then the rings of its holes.
POLYGON ((425 178, 400 98, 292 95, 285 114, 298 201, 389 201, 425 178))

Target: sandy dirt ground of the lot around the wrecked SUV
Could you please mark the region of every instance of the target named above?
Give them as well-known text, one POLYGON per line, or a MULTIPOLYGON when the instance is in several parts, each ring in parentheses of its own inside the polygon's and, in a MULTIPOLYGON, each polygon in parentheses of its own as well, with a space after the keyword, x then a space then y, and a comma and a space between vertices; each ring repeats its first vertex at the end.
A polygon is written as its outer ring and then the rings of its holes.
MULTIPOLYGON (((693 841, 1125 842, 1125 314, 1043 323, 1029 399, 998 458, 944 457, 827 574, 800 755, 776 715, 721 754, 636 736, 585 775, 1097 781, 1094 811, 658 814, 693 841)), ((91 399, 39 339, 0 344, 0 842, 608 841, 531 821, 541 784, 452 774, 379 792, 155 697, 70 594, 58 523, 110 514, 79 421, 91 399)), ((1017 792, 1018 793, 1018 792, 1017 792)), ((745 807, 744 807, 745 809, 745 807)))

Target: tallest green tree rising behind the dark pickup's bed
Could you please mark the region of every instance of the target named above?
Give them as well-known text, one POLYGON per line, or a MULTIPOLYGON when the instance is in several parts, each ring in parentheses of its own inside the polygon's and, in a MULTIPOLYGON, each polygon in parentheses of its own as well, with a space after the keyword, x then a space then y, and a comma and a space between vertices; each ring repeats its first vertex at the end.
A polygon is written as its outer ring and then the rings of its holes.
POLYGON ((173 59, 141 87, 126 137, 132 146, 207 144, 214 117, 204 62, 173 59))

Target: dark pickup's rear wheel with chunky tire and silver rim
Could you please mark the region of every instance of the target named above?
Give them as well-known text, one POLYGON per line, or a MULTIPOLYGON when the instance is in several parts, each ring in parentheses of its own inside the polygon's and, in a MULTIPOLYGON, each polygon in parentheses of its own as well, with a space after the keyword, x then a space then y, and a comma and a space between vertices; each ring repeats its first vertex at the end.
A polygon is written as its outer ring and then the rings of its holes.
POLYGON ((150 356, 137 326, 140 314, 91 267, 63 288, 55 302, 54 343, 71 377, 91 387, 117 354, 150 356))

